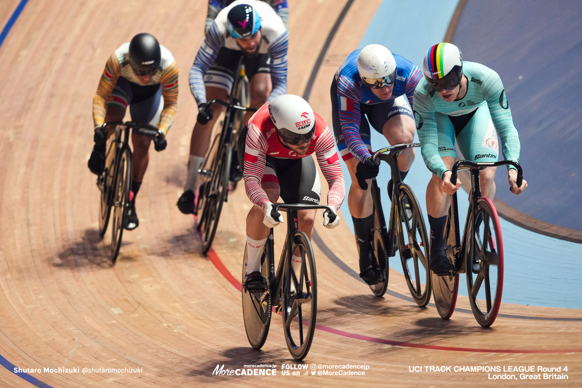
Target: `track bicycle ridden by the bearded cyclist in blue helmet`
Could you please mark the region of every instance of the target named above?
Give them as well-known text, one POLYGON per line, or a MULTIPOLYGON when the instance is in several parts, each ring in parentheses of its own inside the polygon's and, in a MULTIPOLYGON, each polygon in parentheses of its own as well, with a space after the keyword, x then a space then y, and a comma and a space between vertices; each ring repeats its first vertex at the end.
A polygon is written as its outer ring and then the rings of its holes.
MULTIPOLYGON (((256 111, 249 108, 248 81, 242 62, 239 62, 236 74, 235 83, 230 91, 230 103, 213 99, 207 105, 207 109, 210 109, 213 104, 221 104, 226 106, 226 112, 222 121, 222 130, 214 137, 204 162, 198 169, 200 187, 194 214, 199 215, 197 230, 202 238, 204 254, 207 254, 212 247, 222 204, 228 201, 229 190, 234 190, 236 187, 236 181, 230 181, 230 175, 233 166, 238 164, 236 144, 238 134, 245 124, 244 113, 256 111)), ((242 170, 242 166, 240 169, 242 170)))

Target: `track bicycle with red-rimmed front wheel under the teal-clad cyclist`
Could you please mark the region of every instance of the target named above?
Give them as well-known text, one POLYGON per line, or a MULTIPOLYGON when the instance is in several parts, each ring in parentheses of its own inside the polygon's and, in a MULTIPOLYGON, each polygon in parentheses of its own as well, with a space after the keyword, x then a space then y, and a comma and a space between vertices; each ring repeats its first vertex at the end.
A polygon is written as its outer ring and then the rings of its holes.
POLYGON ((438 276, 431 271, 432 290, 438 314, 448 319, 455 311, 459 291, 459 273, 466 273, 471 310, 479 325, 493 324, 501 305, 503 291, 503 239, 497 210, 491 200, 481 197, 479 171, 487 167, 512 165, 517 169, 517 186, 521 187, 521 166, 513 161, 475 163, 458 161, 453 165, 450 181, 457 183, 457 170, 469 169, 471 191, 469 211, 463 231, 459 234, 457 193, 452 195, 445 227, 446 255, 455 271, 438 276))

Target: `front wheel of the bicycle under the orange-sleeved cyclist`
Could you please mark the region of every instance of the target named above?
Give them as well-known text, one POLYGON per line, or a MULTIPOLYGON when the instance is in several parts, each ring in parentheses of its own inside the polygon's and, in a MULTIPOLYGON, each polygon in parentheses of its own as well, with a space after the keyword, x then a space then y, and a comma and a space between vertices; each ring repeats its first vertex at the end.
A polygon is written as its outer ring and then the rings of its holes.
POLYGON ((115 178, 113 179, 113 220, 111 230, 111 262, 115 264, 121 247, 123 227, 129 207, 129 186, 132 181, 132 154, 129 148, 122 149, 119 155, 115 178))

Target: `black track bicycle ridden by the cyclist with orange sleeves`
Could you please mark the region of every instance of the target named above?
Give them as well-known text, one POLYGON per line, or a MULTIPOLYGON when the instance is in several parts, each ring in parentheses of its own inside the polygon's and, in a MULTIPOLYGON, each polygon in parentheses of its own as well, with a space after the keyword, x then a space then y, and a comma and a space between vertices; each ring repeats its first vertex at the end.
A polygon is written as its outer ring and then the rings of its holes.
POLYGON ((132 190, 132 149, 129 147, 130 130, 133 133, 155 137, 161 131, 150 124, 135 122, 108 122, 102 127, 115 126, 114 136, 109 137, 105 156, 105 169, 97 177, 97 187, 101 191, 99 236, 103 238, 109 225, 111 208, 113 222, 111 229, 111 262, 115 265, 121 247, 123 227, 129 207, 129 191, 132 190))

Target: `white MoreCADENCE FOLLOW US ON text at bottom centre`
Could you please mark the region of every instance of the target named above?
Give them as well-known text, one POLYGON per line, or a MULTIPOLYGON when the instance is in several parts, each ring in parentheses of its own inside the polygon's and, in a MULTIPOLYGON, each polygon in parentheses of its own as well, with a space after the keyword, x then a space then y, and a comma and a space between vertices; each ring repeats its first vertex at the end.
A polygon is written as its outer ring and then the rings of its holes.
POLYGON ((218 364, 212 376, 364 376, 370 369, 365 364, 281 364, 277 373, 276 364, 243 365, 242 368, 225 368, 218 364))

